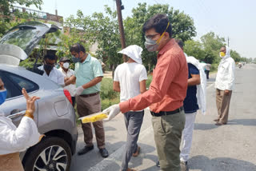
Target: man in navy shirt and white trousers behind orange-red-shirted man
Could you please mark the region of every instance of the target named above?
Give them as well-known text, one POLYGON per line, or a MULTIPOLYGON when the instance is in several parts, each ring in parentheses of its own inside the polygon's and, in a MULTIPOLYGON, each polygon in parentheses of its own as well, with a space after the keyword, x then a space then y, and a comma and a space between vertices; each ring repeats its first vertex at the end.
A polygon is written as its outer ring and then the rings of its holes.
MULTIPOLYGON (((181 40, 176 40, 176 42, 183 50, 184 43, 181 40)), ((192 145, 194 120, 197 110, 199 109, 198 102, 204 101, 203 104, 205 104, 205 106, 202 106, 202 103, 200 104, 202 113, 205 112, 206 109, 206 75, 204 74, 204 70, 201 68, 198 60, 194 57, 186 57, 186 62, 189 70, 186 98, 183 101, 186 123, 185 128, 182 131, 182 151, 180 154, 182 171, 189 170, 187 161, 189 160, 190 148, 192 145), (202 96, 199 94, 202 94, 202 96)))

